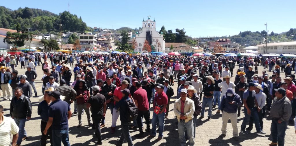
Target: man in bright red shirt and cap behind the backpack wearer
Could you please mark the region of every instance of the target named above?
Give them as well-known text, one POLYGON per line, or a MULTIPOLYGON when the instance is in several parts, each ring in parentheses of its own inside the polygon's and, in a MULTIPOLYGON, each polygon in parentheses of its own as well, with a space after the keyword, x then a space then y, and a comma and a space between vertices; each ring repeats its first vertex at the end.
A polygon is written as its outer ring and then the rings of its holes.
MULTIPOLYGON (((120 90, 127 88, 128 85, 129 85, 128 81, 123 80, 121 82, 121 86, 115 88, 114 93, 113 93, 114 105, 122 98, 122 93, 120 92, 120 90)), ((115 108, 113 108, 112 125, 111 125, 111 132, 110 132, 111 134, 113 134, 115 132, 116 121, 117 121, 119 115, 120 115, 119 110, 116 110, 115 108)))

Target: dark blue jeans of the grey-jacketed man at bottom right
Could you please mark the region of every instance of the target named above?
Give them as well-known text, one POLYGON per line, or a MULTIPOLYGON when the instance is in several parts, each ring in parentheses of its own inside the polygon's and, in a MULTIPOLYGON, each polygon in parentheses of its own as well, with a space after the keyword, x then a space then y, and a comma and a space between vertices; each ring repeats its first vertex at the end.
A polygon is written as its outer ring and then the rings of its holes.
POLYGON ((283 146, 285 144, 285 132, 288 126, 287 121, 282 121, 279 124, 278 119, 271 119, 271 127, 270 132, 272 136, 272 142, 278 143, 279 146, 283 146))

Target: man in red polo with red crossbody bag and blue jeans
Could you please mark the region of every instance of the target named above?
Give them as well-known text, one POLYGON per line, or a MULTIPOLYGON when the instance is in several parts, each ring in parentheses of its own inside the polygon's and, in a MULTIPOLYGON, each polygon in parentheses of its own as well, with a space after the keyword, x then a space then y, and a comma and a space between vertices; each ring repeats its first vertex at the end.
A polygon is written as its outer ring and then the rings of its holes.
POLYGON ((152 132, 148 138, 156 137, 156 123, 158 123, 158 138, 156 141, 160 141, 163 138, 163 129, 165 122, 166 106, 168 105, 168 96, 163 92, 164 86, 158 84, 155 86, 155 98, 153 102, 153 116, 152 116, 152 132))

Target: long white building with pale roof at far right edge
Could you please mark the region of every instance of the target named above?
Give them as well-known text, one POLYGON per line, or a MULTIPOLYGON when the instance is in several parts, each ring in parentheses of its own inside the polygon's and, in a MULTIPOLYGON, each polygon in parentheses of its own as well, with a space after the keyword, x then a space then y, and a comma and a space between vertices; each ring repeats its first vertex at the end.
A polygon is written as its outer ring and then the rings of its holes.
MULTIPOLYGON (((258 54, 264 52, 265 44, 258 46, 258 54)), ((296 54, 296 41, 294 42, 280 42, 280 43, 267 43, 266 53, 277 54, 296 54)))

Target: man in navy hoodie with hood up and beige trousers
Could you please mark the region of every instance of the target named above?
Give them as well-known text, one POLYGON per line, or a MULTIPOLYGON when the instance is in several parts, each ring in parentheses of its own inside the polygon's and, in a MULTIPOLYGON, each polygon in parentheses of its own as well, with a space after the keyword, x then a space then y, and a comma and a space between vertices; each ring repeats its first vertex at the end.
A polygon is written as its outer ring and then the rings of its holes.
POLYGON ((234 89, 228 88, 226 94, 223 95, 220 108, 222 111, 222 134, 219 137, 226 136, 226 126, 230 119, 233 128, 232 135, 235 140, 238 140, 238 129, 237 129, 237 107, 242 105, 242 100, 238 94, 234 92, 234 89))

